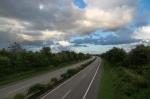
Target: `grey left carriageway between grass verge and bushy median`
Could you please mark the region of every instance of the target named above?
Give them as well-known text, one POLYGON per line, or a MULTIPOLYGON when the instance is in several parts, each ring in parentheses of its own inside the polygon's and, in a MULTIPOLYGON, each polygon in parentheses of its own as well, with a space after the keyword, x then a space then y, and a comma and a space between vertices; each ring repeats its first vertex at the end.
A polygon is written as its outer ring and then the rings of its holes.
POLYGON ((25 90, 27 90, 27 88, 29 88, 30 86, 37 84, 37 83, 46 83, 53 77, 60 77, 60 75, 65 73, 68 69, 79 67, 81 64, 84 64, 87 61, 90 61, 92 59, 93 58, 71 65, 71 66, 67 66, 67 67, 55 70, 53 72, 49 72, 46 74, 42 74, 42 75, 35 76, 26 80, 19 81, 14 84, 0 87, 0 99, 3 99, 4 97, 8 97, 8 96, 13 96, 16 93, 25 92, 25 90))

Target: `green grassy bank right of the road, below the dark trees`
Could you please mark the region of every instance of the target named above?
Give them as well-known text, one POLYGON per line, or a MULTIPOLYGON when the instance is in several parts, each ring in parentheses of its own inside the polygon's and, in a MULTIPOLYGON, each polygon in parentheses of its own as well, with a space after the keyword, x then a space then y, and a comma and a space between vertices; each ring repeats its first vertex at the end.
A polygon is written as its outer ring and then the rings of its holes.
POLYGON ((123 68, 103 61, 99 99, 150 99, 150 65, 123 68))

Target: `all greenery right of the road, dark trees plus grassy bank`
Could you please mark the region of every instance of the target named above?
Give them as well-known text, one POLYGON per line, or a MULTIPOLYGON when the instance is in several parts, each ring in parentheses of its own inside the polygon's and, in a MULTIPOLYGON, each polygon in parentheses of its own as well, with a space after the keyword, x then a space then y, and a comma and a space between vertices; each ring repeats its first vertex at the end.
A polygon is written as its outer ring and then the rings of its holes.
POLYGON ((104 59, 100 99, 150 99, 150 46, 113 48, 104 59))

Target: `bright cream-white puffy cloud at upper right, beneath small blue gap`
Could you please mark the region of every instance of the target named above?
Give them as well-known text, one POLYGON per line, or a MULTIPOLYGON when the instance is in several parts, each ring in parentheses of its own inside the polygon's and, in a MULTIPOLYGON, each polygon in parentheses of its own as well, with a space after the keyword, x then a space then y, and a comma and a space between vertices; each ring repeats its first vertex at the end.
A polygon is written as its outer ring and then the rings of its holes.
POLYGON ((130 23, 135 14, 137 0, 85 0, 84 19, 81 26, 97 29, 118 29, 130 23))

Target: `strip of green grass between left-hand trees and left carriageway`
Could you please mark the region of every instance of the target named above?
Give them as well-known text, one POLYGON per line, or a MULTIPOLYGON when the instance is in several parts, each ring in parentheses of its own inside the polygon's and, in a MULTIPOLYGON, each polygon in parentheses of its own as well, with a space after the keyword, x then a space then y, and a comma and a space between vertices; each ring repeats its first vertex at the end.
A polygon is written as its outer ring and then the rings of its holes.
POLYGON ((59 69, 59 68, 70 66, 71 64, 75 64, 77 62, 81 62, 81 61, 73 61, 73 62, 60 64, 57 67, 48 66, 48 67, 37 68, 37 69, 26 71, 26 72, 7 75, 4 78, 0 78, 0 86, 4 86, 4 85, 10 84, 10 83, 15 83, 17 81, 24 80, 24 79, 27 79, 27 78, 29 79, 31 77, 34 77, 34 76, 37 76, 37 75, 40 75, 40 74, 44 74, 44 73, 54 71, 54 70, 59 69))

